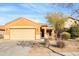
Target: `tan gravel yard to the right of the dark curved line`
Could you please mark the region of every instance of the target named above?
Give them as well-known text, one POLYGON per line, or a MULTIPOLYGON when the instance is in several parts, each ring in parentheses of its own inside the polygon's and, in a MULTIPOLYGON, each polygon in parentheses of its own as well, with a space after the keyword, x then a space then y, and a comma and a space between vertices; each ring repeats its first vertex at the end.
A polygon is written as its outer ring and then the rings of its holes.
POLYGON ((50 48, 58 53, 66 55, 66 56, 69 56, 69 55, 78 56, 79 55, 79 41, 68 40, 68 41, 64 41, 64 42, 65 42, 64 48, 55 47, 54 46, 54 44, 56 44, 55 41, 52 42, 53 46, 50 46, 50 48))

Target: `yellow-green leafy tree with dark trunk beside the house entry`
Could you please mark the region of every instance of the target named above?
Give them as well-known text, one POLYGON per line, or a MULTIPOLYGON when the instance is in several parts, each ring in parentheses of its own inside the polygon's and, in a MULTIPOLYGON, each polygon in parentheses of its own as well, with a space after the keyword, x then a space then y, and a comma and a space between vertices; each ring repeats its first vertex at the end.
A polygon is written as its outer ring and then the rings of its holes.
POLYGON ((66 21, 66 17, 63 13, 50 13, 46 17, 48 23, 55 27, 56 37, 60 37, 60 33, 64 29, 64 22, 66 21))

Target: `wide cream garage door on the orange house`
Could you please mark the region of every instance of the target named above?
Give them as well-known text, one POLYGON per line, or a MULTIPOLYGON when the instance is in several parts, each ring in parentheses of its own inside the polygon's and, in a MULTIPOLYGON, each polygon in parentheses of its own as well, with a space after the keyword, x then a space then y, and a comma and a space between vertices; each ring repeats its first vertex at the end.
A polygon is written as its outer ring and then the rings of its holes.
POLYGON ((12 40, 35 40, 35 29, 10 29, 12 40))

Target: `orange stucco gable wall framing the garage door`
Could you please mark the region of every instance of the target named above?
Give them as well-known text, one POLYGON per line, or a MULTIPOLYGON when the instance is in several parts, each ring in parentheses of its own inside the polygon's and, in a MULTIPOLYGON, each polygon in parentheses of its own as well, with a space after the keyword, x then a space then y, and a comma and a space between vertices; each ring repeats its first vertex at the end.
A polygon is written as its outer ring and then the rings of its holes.
MULTIPOLYGON (((14 26, 32 26, 36 29, 36 39, 40 39, 40 24, 34 23, 28 19, 25 18, 18 18, 10 23, 7 23, 5 25, 5 36, 4 38, 7 36, 7 39, 10 39, 10 27, 14 27, 14 26)), ((6 39, 6 38, 5 38, 6 39)))

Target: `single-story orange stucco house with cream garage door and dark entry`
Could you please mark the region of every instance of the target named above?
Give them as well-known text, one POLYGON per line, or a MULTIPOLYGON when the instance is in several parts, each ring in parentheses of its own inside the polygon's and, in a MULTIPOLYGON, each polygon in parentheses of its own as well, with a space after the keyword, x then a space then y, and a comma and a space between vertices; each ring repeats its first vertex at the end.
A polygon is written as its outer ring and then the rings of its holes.
POLYGON ((29 19, 20 17, 5 24, 4 39, 10 40, 37 40, 47 35, 52 36, 52 29, 47 25, 33 22, 29 19))

